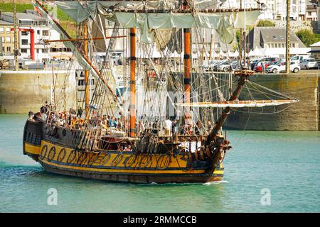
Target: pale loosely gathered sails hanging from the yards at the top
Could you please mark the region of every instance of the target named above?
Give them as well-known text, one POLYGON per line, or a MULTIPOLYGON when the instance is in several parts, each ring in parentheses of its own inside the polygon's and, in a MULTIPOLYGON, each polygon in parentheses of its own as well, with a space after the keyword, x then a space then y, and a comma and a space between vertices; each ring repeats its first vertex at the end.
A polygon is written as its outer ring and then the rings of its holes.
POLYGON ((231 43, 233 28, 252 26, 260 10, 219 11, 213 9, 175 9, 175 1, 55 1, 76 22, 95 18, 100 14, 110 21, 117 21, 124 28, 140 28, 142 41, 152 43, 154 29, 210 28, 215 29, 221 40, 231 43))

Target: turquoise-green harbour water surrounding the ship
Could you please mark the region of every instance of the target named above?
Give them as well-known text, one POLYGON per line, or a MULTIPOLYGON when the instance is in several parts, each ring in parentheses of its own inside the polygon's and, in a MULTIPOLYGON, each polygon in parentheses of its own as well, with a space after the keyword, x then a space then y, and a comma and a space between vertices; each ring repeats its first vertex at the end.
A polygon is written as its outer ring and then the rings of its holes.
POLYGON ((123 184, 45 172, 22 154, 26 117, 0 115, 0 212, 320 211, 320 132, 228 131, 223 182, 123 184))

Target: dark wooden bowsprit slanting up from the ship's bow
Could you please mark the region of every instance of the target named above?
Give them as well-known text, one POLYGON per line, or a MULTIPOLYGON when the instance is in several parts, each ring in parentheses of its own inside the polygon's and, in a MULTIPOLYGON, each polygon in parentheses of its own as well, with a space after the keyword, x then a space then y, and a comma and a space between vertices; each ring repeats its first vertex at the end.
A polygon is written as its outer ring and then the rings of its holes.
MULTIPOLYGON (((247 81, 247 77, 249 77, 253 73, 254 72, 250 70, 240 71, 240 73, 238 74, 239 79, 238 79, 237 87, 235 88, 235 91, 233 92, 233 94, 231 94, 228 101, 235 101, 238 99, 238 96, 243 88, 243 85, 245 85, 245 82, 247 81)), ((223 113, 219 116, 218 120, 215 122, 215 126, 210 131, 207 137, 206 145, 209 145, 211 141, 215 140, 215 137, 217 136, 221 126, 223 126, 225 119, 227 118, 228 114, 230 114, 230 110, 231 110, 230 106, 225 107, 225 109, 223 109, 223 113)))

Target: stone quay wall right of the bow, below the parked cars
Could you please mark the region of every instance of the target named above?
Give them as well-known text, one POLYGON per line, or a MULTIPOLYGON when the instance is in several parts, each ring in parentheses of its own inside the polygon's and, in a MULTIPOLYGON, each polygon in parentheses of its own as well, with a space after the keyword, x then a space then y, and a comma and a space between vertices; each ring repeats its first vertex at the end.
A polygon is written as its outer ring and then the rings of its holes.
MULTIPOLYGON (((293 96, 299 99, 299 102, 275 108, 234 109, 228 116, 225 127, 261 131, 318 131, 320 129, 319 71, 302 71, 298 74, 255 74, 250 77, 250 81, 293 96), (276 113, 267 114, 272 112, 276 113)), ((250 94, 244 89, 240 99, 250 99, 250 94)))

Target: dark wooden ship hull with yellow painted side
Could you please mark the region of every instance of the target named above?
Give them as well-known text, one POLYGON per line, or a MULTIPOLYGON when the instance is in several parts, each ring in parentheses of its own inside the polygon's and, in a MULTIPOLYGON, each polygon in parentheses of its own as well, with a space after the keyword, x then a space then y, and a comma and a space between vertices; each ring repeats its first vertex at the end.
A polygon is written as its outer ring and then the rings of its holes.
POLYGON ((23 154, 59 175, 132 183, 205 183, 220 181, 223 164, 214 157, 201 160, 190 153, 134 153, 120 150, 76 149, 75 131, 58 129, 46 135, 45 123, 28 120, 23 132, 23 154), (216 163, 216 165, 213 165, 216 163))

